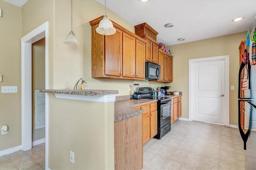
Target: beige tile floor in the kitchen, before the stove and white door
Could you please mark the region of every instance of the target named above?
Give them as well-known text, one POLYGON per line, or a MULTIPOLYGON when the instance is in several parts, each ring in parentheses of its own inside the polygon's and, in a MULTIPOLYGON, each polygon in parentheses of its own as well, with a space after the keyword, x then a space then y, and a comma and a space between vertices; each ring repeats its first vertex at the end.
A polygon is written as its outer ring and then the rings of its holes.
POLYGON ((238 128, 177 121, 161 140, 144 145, 144 168, 152 170, 244 170, 238 128))

